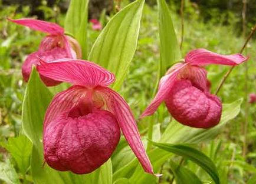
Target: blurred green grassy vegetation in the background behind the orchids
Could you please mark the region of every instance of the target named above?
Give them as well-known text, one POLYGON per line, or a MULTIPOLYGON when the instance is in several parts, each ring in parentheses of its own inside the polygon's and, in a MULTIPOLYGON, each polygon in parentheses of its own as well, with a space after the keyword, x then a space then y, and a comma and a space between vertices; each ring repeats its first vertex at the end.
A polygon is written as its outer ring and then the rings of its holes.
MULTIPOLYGON (((207 1, 210 4, 209 1, 207 1)), ((212 3, 221 1, 211 1, 212 3)), ((222 1, 223 4, 226 1, 222 1)), ((237 1, 235 1, 237 2, 237 1)), ((248 1, 251 3, 251 1, 248 1)), ((124 2, 126 4, 127 2, 124 2)), ((1 5, 1 3, 0 3, 1 5)), ((255 4, 254 4, 255 5, 255 4)), ((199 7, 204 7, 204 3, 198 1, 199 7)), ((223 12, 216 8, 199 9, 193 2, 185 1, 185 35, 183 41, 182 54, 195 48, 206 48, 210 51, 231 54, 238 53, 244 44, 241 29, 241 9, 223 12), (200 11, 199 11, 200 10, 200 11), (238 13, 239 12, 239 13, 238 13), (207 15, 206 15, 207 14, 207 15)), ((209 5, 208 5, 209 6, 209 5)), ((215 7, 215 6, 214 6, 215 7)), ((241 8, 241 6, 239 6, 241 8)), ((26 84, 22 81, 21 65, 25 57, 34 52, 40 44, 44 34, 31 31, 28 28, 18 26, 6 21, 6 17, 22 18, 29 15, 29 6, 23 6, 17 11, 18 6, 1 6, 0 8, 0 142, 6 142, 7 138, 19 134, 21 128, 21 106, 26 84)), ((175 24, 178 38, 180 39, 180 16, 179 3, 175 1, 170 4, 172 18, 175 24)), ((255 9, 255 8, 254 8, 255 9)), ((47 6, 42 6, 44 17, 47 21, 57 22, 64 25, 64 15, 47 6)), ((108 16, 101 18, 106 24, 108 16)), ((251 19, 250 19, 251 21, 251 19)), ((252 23, 248 21, 247 32, 255 22, 255 15, 252 16, 252 23)), ((91 45, 99 35, 93 31, 91 25, 88 28, 88 45, 91 45)), ((255 38, 255 36, 254 36, 255 38)), ((250 55, 248 61, 248 79, 245 76, 245 64, 237 66, 232 71, 227 82, 225 82, 219 97, 222 102, 229 103, 238 98, 244 98, 241 113, 229 122, 222 130, 218 139, 200 145, 214 162, 221 166, 219 173, 223 183, 246 183, 255 174, 256 166, 256 104, 249 105, 249 126, 247 134, 248 152, 246 158, 242 157, 242 125, 245 122, 245 102, 248 101, 248 93, 256 93, 256 41, 253 39, 247 45, 244 54, 250 55), (248 88, 245 91, 245 82, 248 88), (214 151, 212 151, 214 150, 214 151), (228 181, 228 182, 227 182, 228 181)), ((159 35, 157 31, 157 9, 156 5, 146 5, 142 16, 139 42, 136 55, 132 61, 129 75, 123 84, 122 95, 131 105, 134 115, 139 117, 143 109, 146 108, 152 99, 153 89, 157 79, 157 62, 159 61, 159 35)), ((216 90, 220 79, 228 70, 228 66, 208 66, 208 76, 212 82, 212 91, 216 90)), ((161 123, 161 129, 165 129, 170 122, 170 116, 165 106, 160 106, 157 113, 157 123, 161 123)), ((142 132, 147 129, 147 119, 139 123, 142 132)), ((184 135, 186 136, 186 135, 184 135)), ((0 149, 0 160, 10 158, 5 149, 0 149)), ((14 159, 11 160, 15 164, 14 159)), ((191 169, 195 165, 185 162, 191 169)), ((18 168, 18 165, 16 165, 18 168)), ((169 171, 169 163, 163 166, 162 183, 168 183, 172 178, 169 171)), ((200 173, 201 170, 197 170, 200 173)))

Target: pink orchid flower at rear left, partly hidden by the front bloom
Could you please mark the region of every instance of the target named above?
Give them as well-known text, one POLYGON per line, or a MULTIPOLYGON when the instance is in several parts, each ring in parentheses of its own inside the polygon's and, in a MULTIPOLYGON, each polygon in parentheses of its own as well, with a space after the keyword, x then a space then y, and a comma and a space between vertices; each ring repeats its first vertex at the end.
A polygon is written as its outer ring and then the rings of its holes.
MULTIPOLYGON (((44 39, 42 39, 38 51, 31 53, 28 55, 27 59, 25 59, 25 62, 22 65, 22 76, 24 81, 28 81, 32 65, 40 63, 40 59, 38 59, 38 57, 44 59, 46 62, 61 58, 81 58, 80 45, 74 38, 65 35, 64 29, 61 28, 61 26, 51 22, 29 18, 8 20, 48 34, 44 39)), ((40 77, 47 86, 54 86, 61 83, 60 81, 49 79, 41 75, 41 73, 40 77)))

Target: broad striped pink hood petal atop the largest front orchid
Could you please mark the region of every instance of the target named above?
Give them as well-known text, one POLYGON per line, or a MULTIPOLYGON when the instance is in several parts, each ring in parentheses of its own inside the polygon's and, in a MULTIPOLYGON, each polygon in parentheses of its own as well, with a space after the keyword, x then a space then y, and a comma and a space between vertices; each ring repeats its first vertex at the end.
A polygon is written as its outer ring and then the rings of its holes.
POLYGON ((107 86, 114 82, 114 74, 93 62, 78 59, 58 59, 54 62, 41 61, 41 75, 56 81, 70 82, 87 87, 107 86))

